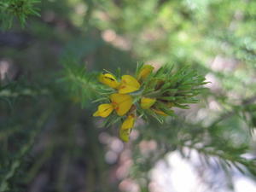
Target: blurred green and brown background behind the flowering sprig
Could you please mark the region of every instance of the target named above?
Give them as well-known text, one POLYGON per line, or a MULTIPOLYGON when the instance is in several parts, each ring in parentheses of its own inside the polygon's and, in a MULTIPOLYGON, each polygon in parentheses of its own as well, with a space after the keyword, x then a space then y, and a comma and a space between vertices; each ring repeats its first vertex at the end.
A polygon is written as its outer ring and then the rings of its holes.
POLYGON ((178 191, 160 187, 152 172, 172 153, 188 159, 207 186, 189 191, 238 191, 241 172, 256 181, 255 1, 34 6, 41 16, 0 30, 0 191, 178 191), (137 62, 189 65, 211 83, 199 104, 176 110, 164 125, 139 121, 122 143, 119 125, 102 128, 91 116, 93 74, 133 73, 137 62))

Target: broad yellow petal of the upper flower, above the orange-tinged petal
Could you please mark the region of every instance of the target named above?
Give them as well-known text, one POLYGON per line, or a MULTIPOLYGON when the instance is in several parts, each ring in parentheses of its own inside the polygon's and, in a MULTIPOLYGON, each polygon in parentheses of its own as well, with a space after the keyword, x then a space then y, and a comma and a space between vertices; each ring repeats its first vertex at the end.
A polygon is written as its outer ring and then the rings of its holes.
POLYGON ((123 75, 121 84, 119 85, 119 93, 131 93, 133 91, 140 89, 140 84, 137 79, 133 78, 131 75, 123 75))

